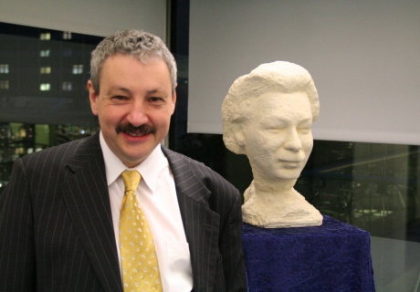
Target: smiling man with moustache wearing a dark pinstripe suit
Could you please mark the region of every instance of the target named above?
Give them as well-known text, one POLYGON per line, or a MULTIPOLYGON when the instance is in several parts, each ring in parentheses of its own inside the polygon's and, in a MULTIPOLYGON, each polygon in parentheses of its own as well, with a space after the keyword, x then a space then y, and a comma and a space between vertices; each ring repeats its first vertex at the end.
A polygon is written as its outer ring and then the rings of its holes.
POLYGON ((246 290, 240 194, 160 144, 175 87, 175 61, 157 36, 119 32, 92 52, 89 99, 100 132, 15 162, 0 198, 0 291, 128 286, 120 237, 127 169, 142 176, 134 200, 152 231, 163 291, 246 290))

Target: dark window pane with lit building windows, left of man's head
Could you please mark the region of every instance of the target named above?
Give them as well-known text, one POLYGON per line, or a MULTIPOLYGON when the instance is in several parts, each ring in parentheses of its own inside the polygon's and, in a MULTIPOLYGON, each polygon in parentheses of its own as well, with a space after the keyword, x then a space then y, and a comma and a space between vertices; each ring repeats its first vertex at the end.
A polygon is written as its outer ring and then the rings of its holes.
POLYGON ((0 23, 0 122, 97 125, 83 68, 101 39, 0 23))

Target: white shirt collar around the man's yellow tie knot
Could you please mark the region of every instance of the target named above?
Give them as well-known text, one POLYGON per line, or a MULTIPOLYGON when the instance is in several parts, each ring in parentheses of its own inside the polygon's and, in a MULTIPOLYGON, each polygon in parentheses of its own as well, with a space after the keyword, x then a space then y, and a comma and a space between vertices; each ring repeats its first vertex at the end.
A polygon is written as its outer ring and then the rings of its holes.
MULTIPOLYGON (((105 161, 105 170, 107 173, 107 183, 110 186, 121 175, 121 172, 127 169, 127 166, 110 150, 110 147, 103 138, 102 131, 100 131, 100 147, 103 152, 103 159, 105 161)), ((168 161, 163 154, 161 145, 158 145, 152 153, 142 163, 133 169, 140 172, 142 181, 151 189, 152 193, 156 190, 159 175, 163 168, 168 165, 168 161)))

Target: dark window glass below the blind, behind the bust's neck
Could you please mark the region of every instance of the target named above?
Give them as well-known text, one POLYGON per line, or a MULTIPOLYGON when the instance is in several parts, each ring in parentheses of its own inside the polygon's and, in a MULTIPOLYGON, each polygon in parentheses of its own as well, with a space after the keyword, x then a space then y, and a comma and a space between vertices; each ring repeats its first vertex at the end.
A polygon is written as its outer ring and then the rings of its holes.
MULTIPOLYGON (((180 134, 174 145, 241 193, 252 181, 247 156, 227 151, 222 135, 180 134)), ((419 152, 413 145, 314 141, 295 185, 321 214, 371 233, 377 291, 420 287, 419 152)))

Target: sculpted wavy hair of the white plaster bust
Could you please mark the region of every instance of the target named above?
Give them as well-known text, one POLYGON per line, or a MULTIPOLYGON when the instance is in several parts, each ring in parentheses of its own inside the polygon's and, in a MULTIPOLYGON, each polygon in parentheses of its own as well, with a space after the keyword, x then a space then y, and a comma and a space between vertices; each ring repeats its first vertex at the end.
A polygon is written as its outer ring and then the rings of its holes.
POLYGON ((312 121, 320 115, 320 100, 310 73, 297 64, 276 61, 258 66, 235 80, 222 105, 223 141, 236 154, 245 154, 237 137, 247 126, 253 102, 266 92, 306 92, 310 99, 312 121))

